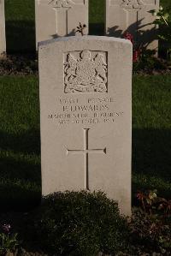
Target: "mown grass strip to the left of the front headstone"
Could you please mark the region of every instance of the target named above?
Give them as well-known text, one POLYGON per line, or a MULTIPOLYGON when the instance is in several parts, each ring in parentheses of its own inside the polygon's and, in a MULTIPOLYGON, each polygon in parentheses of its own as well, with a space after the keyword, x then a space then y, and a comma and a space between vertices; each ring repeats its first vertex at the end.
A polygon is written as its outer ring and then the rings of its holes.
POLYGON ((29 206, 41 194, 38 79, 0 77, 0 202, 29 206))

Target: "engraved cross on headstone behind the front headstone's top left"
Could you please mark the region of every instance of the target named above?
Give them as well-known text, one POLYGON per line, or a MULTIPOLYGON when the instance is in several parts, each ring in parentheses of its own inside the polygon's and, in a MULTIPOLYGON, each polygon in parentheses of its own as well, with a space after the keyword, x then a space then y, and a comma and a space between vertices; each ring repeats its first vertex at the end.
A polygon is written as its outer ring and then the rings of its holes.
POLYGON ((74 2, 71 0, 50 0, 52 8, 56 11, 56 35, 68 35, 68 9, 74 2), (61 26, 59 26, 59 22, 61 26))

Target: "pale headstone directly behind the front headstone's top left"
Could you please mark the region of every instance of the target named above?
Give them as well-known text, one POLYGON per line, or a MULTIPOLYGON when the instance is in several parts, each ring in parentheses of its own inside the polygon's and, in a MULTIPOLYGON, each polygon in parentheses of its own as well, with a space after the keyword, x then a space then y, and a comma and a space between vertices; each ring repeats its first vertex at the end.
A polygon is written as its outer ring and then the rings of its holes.
POLYGON ((75 35, 76 27, 86 25, 88 33, 88 0, 35 0, 36 40, 75 35))

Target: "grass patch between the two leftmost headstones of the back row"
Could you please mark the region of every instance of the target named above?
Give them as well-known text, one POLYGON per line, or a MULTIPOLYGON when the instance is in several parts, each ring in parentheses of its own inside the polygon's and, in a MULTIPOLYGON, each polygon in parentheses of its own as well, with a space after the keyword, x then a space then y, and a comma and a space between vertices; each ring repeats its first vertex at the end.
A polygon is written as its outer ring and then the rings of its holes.
POLYGON ((7 51, 35 51, 34 0, 5 0, 7 51))

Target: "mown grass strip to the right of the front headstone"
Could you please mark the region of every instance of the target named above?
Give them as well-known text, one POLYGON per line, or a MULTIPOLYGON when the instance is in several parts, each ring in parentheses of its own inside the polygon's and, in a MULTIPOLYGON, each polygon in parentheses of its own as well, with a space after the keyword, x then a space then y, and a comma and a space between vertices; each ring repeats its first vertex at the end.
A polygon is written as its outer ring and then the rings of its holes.
POLYGON ((171 193, 171 75, 133 78, 133 192, 171 193))

